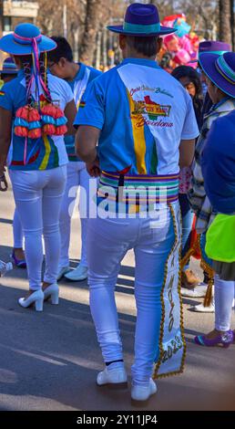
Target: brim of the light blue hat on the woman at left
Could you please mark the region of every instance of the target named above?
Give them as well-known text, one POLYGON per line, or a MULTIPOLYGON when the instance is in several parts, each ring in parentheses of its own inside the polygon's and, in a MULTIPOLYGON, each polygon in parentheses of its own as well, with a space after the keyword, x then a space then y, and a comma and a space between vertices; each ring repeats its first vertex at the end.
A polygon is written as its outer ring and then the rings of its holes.
MULTIPOLYGON (((56 48, 56 42, 49 37, 42 36, 41 41, 37 44, 40 52, 47 52, 56 48)), ((0 49, 11 55, 30 55, 33 52, 33 46, 16 43, 13 33, 0 39, 0 49)))

